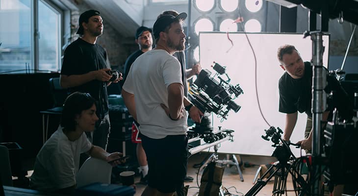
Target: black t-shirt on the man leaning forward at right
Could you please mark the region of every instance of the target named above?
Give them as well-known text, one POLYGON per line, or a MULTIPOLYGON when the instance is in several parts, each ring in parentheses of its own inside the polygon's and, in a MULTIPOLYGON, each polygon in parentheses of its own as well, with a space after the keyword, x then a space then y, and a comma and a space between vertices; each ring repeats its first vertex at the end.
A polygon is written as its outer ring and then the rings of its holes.
MULTIPOLYGON (((325 68, 324 68, 325 69, 325 68)), ((332 76, 327 76, 328 85, 325 92, 329 94, 333 91, 333 100, 326 111, 332 111, 337 108, 344 119, 352 119, 353 106, 347 93, 343 90, 338 80, 332 76)), ((286 114, 292 114, 297 111, 305 112, 307 116, 312 117, 312 66, 305 62, 305 73, 302 78, 294 79, 287 72, 283 73, 279 80, 280 104, 279 111, 286 114)), ((332 114, 329 119, 332 118, 332 114)))

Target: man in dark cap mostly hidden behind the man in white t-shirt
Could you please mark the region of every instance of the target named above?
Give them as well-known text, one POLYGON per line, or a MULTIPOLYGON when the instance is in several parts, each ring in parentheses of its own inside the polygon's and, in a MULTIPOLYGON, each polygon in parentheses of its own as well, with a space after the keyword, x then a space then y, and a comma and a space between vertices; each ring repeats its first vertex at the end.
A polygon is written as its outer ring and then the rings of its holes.
MULTIPOLYGON (((144 52, 152 50, 152 46, 153 46, 152 32, 153 32, 152 29, 145 26, 140 26, 139 28, 137 28, 137 31, 135 32, 135 43, 138 44, 139 49, 133 52, 132 54, 130 54, 130 56, 126 60, 126 63, 124 65, 124 77, 123 77, 124 81, 126 81, 130 66, 135 61, 135 59, 137 59, 138 56, 142 55, 144 52)), ((140 78, 137 79, 140 80, 140 78)), ((142 139, 139 137, 138 127, 139 127, 139 123, 133 121, 132 142, 137 144, 136 147, 137 159, 140 166, 139 170, 142 172, 140 182, 142 184, 147 184, 146 175, 148 174, 148 162, 147 162, 146 153, 142 146, 142 139)))

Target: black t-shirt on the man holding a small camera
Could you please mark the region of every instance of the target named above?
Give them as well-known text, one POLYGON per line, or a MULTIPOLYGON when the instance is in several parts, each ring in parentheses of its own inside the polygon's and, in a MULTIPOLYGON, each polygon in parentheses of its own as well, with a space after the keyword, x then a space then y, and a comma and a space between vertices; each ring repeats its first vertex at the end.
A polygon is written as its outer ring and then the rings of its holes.
MULTIPOLYGON (((71 43, 64 52, 61 74, 81 75, 107 68, 107 53, 98 44, 90 44, 80 38, 71 43)), ((96 99, 97 115, 100 119, 108 113, 107 82, 92 80, 69 88, 69 92, 89 93, 96 99)))

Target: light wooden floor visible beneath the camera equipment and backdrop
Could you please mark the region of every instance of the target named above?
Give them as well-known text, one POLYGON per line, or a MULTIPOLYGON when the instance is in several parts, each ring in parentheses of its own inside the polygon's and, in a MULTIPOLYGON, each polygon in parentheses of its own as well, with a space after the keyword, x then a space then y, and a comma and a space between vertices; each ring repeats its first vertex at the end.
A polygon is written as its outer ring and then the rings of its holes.
MULTIPOLYGON (((196 196, 199 192, 199 188, 197 185, 197 172, 198 169, 193 168, 192 166, 196 163, 201 163, 203 159, 207 156, 207 153, 198 153, 189 158, 188 162, 188 175, 194 177, 194 181, 190 183, 185 183, 185 185, 189 185, 188 196, 196 196)), ((226 155, 220 155, 219 159, 224 159, 226 155)), ((240 156, 243 162, 250 162, 255 165, 264 165, 271 162, 275 162, 276 159, 274 157, 263 157, 263 156, 240 156)), ((223 176, 223 187, 227 188, 232 195, 242 196, 247 193, 253 187, 253 180, 255 173, 258 169, 258 166, 244 168, 243 177, 244 181, 240 181, 239 174, 235 167, 225 167, 225 172, 223 176), (237 192, 236 192, 237 191, 237 192)), ((199 172, 199 185, 200 179, 203 171, 199 172)), ((136 178, 136 182, 139 182, 140 178, 136 178)), ((144 185, 136 183, 137 190, 135 196, 140 196, 145 188, 144 185)), ((291 177, 287 179, 287 189, 292 189, 292 180, 291 177)), ((265 185, 262 190, 257 194, 257 196, 272 196, 273 189, 273 180, 271 180, 267 185, 265 185)), ((288 196, 295 195, 294 192, 288 193, 288 196)))

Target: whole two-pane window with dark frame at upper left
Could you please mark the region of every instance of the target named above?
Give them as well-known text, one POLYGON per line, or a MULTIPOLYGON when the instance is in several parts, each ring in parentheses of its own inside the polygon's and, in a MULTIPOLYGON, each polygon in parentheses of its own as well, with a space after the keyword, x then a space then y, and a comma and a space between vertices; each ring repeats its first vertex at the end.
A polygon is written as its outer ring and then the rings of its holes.
POLYGON ((48 1, 0 0, 0 73, 58 71, 61 23, 61 11, 48 1))

